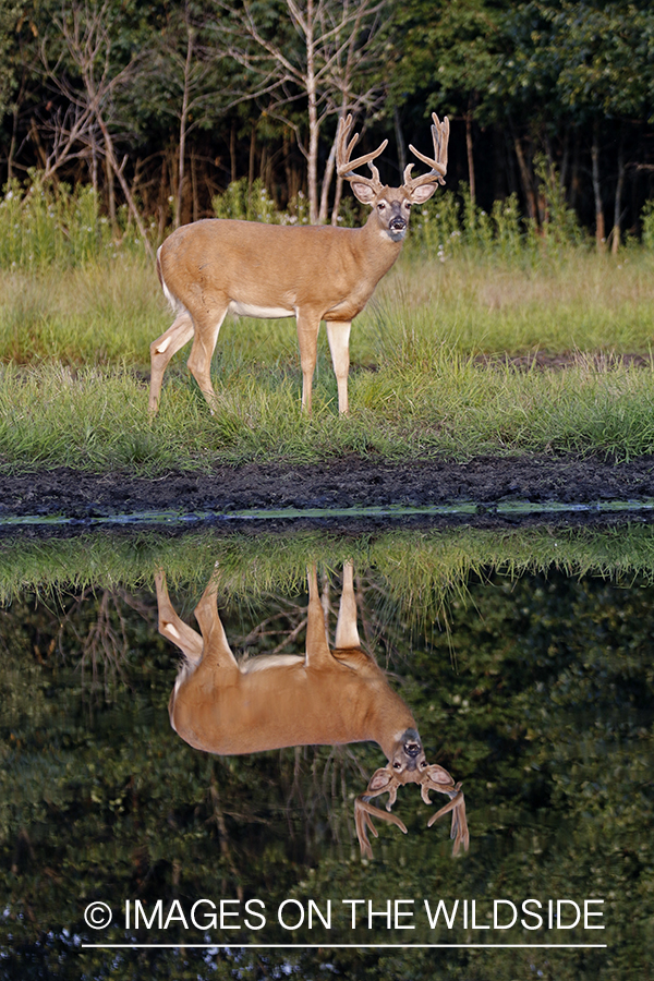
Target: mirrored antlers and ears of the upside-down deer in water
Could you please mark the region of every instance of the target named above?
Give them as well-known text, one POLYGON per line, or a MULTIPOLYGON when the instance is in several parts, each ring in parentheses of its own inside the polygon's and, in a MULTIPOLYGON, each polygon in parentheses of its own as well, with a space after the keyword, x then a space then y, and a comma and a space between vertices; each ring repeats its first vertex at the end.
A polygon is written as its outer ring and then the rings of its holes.
POLYGON ((461 846, 463 846, 464 851, 468 851, 470 834, 468 831, 468 821, 465 819, 465 799, 463 797, 463 791, 461 790, 461 784, 455 784, 447 770, 444 770, 443 766, 438 766, 437 763, 434 763, 431 766, 427 765, 420 774, 416 771, 403 771, 402 773, 396 774, 390 772, 387 767, 377 770, 373 774, 365 792, 360 794, 354 801, 354 823, 356 825, 356 836, 361 846, 361 853, 366 858, 373 857, 373 849, 367 836, 370 829, 375 837, 378 837, 372 821, 373 816, 380 818, 383 821, 388 821, 391 824, 397 825, 400 831, 407 834, 407 828, 399 818, 395 814, 385 813, 379 808, 376 808, 371 803, 371 799, 373 797, 378 797, 380 794, 388 794, 386 811, 389 812, 397 800, 398 787, 410 783, 419 783, 421 785, 421 795, 425 803, 432 803, 429 790, 437 790, 438 794, 446 794, 450 798, 449 803, 446 803, 445 807, 440 808, 439 811, 429 818, 427 827, 432 827, 439 818, 443 818, 444 814, 451 811, 452 827, 450 837, 453 838, 455 841, 452 853, 458 855, 461 850, 461 846))

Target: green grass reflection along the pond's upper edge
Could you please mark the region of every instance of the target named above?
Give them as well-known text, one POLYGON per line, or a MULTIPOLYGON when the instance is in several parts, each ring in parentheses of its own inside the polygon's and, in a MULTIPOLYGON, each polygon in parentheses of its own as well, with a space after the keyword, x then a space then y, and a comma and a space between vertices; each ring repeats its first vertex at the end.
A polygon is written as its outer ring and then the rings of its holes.
POLYGON ((23 590, 148 588, 155 571, 164 569, 172 585, 189 588, 193 602, 217 568, 221 595, 256 604, 270 592, 303 591, 313 562, 338 572, 349 559, 360 572, 375 569, 393 604, 429 618, 450 602, 464 602, 471 577, 493 572, 517 579, 558 570, 576 578, 654 581, 654 529, 460 528, 351 538, 319 532, 225 535, 210 530, 180 536, 97 532, 40 542, 16 537, 0 542, 0 601, 11 602, 23 590))

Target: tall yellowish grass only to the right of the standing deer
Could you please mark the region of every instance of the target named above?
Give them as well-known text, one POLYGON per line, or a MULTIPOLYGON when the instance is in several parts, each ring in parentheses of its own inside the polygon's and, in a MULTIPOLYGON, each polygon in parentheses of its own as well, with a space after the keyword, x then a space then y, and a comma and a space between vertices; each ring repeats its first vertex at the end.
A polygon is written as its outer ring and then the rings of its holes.
MULTIPOLYGON (((376 307, 390 346, 417 334, 464 355, 647 354, 654 255, 633 249, 616 261, 577 247, 534 262, 469 250, 441 264, 419 254, 383 280, 376 307)), ((353 350, 361 343, 353 332, 353 350)))

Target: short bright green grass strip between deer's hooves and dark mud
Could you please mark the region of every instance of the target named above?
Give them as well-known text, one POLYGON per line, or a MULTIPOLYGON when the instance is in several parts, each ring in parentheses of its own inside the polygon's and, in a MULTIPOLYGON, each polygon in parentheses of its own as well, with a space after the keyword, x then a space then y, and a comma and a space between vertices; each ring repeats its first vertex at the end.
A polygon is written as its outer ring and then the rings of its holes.
POLYGON ((360 453, 401 460, 479 453, 654 452, 654 373, 584 355, 561 372, 488 368, 445 346, 408 339, 376 372, 351 379, 339 417, 326 359, 310 419, 283 364, 230 366, 210 415, 186 376, 171 379, 156 419, 147 384, 126 367, 5 366, 0 460, 5 471, 210 470, 217 462, 316 462, 360 453))

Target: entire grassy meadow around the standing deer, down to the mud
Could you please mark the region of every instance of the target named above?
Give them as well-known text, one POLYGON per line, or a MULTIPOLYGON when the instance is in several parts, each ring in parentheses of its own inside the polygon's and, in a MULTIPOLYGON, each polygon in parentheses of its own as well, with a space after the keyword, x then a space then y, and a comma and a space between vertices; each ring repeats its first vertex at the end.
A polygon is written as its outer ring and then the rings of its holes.
POLYGON ((183 367, 186 349, 150 425, 142 375, 170 316, 149 266, 128 253, 102 265, 2 272, 2 464, 161 473, 352 452, 652 452, 654 374, 619 360, 649 351, 649 254, 627 251, 615 263, 578 249, 537 264, 472 255, 443 265, 408 256, 383 281, 352 334, 347 420, 337 417, 324 338, 306 420, 293 325, 241 319, 228 320, 219 339, 216 415, 183 367), (536 349, 574 356, 559 372, 474 361, 536 349))

